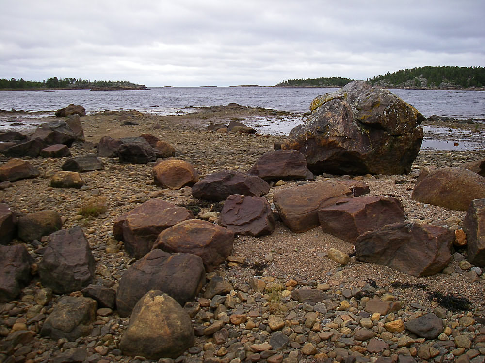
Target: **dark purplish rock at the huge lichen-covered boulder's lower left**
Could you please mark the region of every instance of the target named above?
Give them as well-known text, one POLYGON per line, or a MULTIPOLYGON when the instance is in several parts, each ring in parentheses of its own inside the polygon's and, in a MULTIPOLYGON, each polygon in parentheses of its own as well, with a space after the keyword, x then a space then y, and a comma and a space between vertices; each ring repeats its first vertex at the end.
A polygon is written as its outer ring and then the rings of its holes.
POLYGON ((265 181, 313 179, 305 155, 296 150, 276 150, 263 154, 247 173, 265 181))

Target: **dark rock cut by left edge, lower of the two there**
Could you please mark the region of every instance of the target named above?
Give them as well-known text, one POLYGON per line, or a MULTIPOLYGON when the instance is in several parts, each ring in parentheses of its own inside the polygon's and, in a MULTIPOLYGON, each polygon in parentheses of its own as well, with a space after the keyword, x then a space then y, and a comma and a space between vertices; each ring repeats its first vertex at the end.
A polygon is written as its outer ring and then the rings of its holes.
POLYGON ((29 284, 33 262, 25 245, 0 245, 0 302, 14 300, 29 284))

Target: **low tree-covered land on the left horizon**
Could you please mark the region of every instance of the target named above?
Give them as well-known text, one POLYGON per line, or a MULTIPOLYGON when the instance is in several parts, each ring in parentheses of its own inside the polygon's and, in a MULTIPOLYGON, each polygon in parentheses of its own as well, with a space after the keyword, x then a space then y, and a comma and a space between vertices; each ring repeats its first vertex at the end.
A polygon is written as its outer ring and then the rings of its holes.
POLYGON ((0 78, 0 90, 146 90, 146 86, 128 81, 93 81, 76 78, 52 77, 44 81, 26 81, 20 79, 0 78))

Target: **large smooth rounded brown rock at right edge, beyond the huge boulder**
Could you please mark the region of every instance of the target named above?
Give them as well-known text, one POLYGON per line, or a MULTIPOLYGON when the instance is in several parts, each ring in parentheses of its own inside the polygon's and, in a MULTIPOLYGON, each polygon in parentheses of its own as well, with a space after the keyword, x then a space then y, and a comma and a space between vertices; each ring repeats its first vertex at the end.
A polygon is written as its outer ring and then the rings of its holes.
POLYGON ((485 198, 485 177, 461 167, 442 167, 419 178, 411 197, 422 203, 466 211, 473 199, 485 198))

